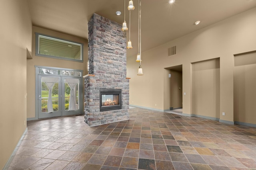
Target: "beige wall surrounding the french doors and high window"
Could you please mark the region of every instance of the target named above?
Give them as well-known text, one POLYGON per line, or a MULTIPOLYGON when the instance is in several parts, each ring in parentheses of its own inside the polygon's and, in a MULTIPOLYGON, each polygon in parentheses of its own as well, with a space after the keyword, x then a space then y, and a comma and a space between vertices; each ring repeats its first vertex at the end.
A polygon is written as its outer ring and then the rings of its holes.
MULTIPOLYGON (((44 28, 40 28, 40 27, 35 27, 35 26, 33 26, 33 34, 32 35, 33 35, 32 59, 27 60, 27 91, 28 91, 27 117, 28 118, 36 117, 36 112, 35 112, 35 105, 36 105, 35 66, 49 66, 49 67, 84 70, 83 74, 84 75, 88 74, 88 71, 87 71, 88 41, 86 39, 74 37, 72 35, 66 35, 63 33, 59 33, 56 31, 52 31, 52 30, 48 30, 48 29, 44 29, 44 28), (68 61, 68 60, 52 59, 52 58, 48 58, 48 57, 36 56, 35 55, 35 40, 36 40, 35 32, 83 43, 84 44, 84 62, 81 63, 81 62, 76 62, 76 61, 68 61)), ((84 102, 82 102, 82 103, 84 103, 84 102)))

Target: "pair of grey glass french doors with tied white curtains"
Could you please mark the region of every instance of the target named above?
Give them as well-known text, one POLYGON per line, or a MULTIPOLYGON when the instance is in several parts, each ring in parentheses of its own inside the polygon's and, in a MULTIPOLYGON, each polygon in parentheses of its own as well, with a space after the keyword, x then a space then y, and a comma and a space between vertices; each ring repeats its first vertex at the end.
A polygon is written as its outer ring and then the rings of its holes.
POLYGON ((38 119, 82 112, 81 77, 38 74, 38 119))

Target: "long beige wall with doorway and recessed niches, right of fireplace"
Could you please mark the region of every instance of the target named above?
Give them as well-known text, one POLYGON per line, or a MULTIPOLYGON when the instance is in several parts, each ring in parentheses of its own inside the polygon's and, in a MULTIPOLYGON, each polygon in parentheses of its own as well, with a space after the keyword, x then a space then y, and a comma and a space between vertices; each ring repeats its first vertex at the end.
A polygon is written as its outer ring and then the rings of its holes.
MULTIPOLYGON (((234 121, 234 54, 256 50, 256 8, 220 21, 142 53, 144 76, 137 76, 138 63, 128 56, 130 104, 164 110, 164 68, 182 65, 183 113, 192 114, 192 63, 220 58, 220 100, 217 118, 234 121), (167 57, 167 49, 177 46, 177 54, 167 57), (159 94, 152 95, 158 88, 159 94), (151 95, 150 95, 151 94, 151 95), (154 100, 156 98, 157 100, 154 100), (159 104, 155 106, 157 101, 159 104), (222 116, 222 112, 226 115, 222 116)), ((195 25, 196 26, 196 25, 195 25)), ((143 39, 142 39, 143 46, 143 39)), ((206 116, 212 116, 206 114, 206 116)))

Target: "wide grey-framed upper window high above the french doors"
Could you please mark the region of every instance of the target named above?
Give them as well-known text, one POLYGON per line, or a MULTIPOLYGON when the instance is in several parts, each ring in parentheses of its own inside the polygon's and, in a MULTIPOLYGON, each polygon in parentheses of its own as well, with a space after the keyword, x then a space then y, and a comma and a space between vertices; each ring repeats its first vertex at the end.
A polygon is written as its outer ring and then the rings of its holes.
POLYGON ((36 55, 83 62, 83 44, 36 33, 36 55))

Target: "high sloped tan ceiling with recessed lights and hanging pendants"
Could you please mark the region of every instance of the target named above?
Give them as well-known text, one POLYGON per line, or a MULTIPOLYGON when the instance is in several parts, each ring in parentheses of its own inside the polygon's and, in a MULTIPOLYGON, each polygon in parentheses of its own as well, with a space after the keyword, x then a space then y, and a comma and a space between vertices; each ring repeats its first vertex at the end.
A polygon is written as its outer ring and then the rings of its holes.
MULTIPOLYGON (((130 30, 133 49, 127 50, 128 57, 138 53, 138 0, 133 2, 130 30)), ((121 24, 124 20, 124 0, 28 0, 28 5, 33 25, 85 39, 93 13, 121 24), (116 11, 122 14, 116 16, 116 11)), ((256 0, 176 0, 174 4, 168 4, 168 0, 141 0, 142 51, 254 7, 256 0), (198 20, 201 23, 194 25, 198 20)))

